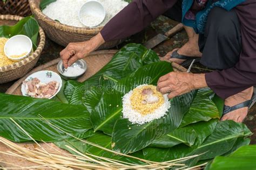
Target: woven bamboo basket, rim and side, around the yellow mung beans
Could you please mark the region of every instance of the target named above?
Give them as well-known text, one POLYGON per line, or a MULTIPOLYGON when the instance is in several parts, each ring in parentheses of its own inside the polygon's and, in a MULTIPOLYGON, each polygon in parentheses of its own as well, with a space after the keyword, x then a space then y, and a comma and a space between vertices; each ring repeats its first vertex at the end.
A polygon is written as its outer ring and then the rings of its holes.
MULTIPOLYGON (((12 15, 0 15, 0 25, 14 25, 22 18, 23 17, 12 15)), ((30 56, 12 65, 0 67, 0 83, 23 77, 36 65, 45 44, 45 35, 41 27, 39 27, 38 39, 38 47, 30 56)))

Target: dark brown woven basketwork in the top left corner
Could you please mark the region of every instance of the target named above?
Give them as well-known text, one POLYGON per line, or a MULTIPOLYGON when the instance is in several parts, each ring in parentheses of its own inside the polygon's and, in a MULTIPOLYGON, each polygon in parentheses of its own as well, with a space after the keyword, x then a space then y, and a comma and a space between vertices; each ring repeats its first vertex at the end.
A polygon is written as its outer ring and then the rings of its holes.
POLYGON ((1 15, 30 16, 31 10, 28 0, 6 0, 0 1, 1 15))

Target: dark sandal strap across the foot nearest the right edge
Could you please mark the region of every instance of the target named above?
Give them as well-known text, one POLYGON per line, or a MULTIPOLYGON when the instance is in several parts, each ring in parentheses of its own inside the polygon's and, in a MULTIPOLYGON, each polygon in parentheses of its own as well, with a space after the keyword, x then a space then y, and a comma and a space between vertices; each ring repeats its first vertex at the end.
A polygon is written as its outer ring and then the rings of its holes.
POLYGON ((245 108, 245 107, 248 107, 248 111, 249 111, 253 107, 255 102, 256 102, 256 91, 255 91, 255 87, 254 87, 254 92, 253 92, 253 96, 252 96, 251 100, 234 105, 233 107, 224 105, 224 111, 223 111, 222 117, 226 114, 229 114, 230 112, 232 112, 234 110, 238 110, 238 109, 245 108))

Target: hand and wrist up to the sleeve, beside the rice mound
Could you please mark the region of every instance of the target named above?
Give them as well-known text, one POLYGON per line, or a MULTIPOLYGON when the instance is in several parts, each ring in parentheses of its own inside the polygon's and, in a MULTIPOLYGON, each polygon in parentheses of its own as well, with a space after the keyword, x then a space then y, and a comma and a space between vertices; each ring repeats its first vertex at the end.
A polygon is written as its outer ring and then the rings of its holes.
POLYGON ((157 82, 157 90, 162 94, 169 93, 168 98, 203 87, 207 87, 204 74, 171 72, 161 76, 157 82))

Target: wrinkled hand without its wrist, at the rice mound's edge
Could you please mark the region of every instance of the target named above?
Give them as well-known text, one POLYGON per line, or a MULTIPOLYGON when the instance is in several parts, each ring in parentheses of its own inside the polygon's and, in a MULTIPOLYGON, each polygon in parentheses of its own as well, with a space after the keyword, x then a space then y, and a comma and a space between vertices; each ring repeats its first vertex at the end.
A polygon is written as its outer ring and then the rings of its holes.
POLYGON ((157 90, 162 94, 169 93, 168 98, 186 94, 194 89, 192 76, 191 73, 168 73, 158 80, 157 90))

